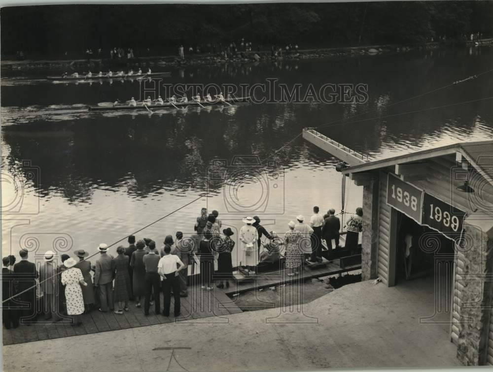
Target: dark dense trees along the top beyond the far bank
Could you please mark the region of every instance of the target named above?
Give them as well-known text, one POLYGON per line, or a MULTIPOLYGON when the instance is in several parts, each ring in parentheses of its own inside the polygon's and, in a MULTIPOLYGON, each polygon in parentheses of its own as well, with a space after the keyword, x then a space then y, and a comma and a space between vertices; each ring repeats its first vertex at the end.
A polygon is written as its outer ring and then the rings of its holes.
POLYGON ((341 46, 415 43, 471 32, 491 36, 493 1, 48 5, 1 9, 3 53, 86 48, 175 50, 178 44, 341 46))

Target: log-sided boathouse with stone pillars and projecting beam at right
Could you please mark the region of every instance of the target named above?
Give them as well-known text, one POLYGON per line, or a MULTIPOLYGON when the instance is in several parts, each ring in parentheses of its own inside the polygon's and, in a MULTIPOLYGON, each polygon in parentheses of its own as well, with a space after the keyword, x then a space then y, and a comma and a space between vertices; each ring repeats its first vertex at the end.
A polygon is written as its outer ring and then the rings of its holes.
POLYGON ((363 186, 362 279, 433 276, 435 313, 420 323, 448 326, 462 364, 493 365, 493 141, 371 161, 312 129, 303 137, 363 186))

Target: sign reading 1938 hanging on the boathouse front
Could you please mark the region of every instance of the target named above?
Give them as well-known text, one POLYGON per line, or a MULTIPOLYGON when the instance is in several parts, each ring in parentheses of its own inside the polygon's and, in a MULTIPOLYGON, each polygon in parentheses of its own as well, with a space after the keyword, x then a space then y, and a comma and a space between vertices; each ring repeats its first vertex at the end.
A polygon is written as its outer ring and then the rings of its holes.
POLYGON ((390 173, 387 176, 387 204, 422 224, 423 190, 390 173))

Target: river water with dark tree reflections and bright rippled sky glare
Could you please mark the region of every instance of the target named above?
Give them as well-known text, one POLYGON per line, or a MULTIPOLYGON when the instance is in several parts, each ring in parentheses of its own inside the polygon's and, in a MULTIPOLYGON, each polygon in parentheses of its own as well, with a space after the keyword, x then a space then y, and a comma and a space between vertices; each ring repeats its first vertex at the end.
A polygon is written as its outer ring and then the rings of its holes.
MULTIPOLYGON (((17 255, 21 247, 32 255, 95 252, 99 243, 126 244, 128 234, 181 207, 137 238, 160 246, 177 230, 193 233, 203 206, 217 209, 223 226, 235 232, 245 216, 258 215, 269 231, 282 233, 297 215, 308 219, 314 205, 339 212, 337 160, 301 136, 293 140, 302 128, 322 126, 323 134, 375 159, 491 138, 492 100, 475 100, 493 96, 493 73, 399 102, 492 69, 492 57, 492 48, 474 48, 161 68, 172 72, 163 80, 171 84, 251 85, 268 78, 288 86, 367 84, 368 100, 153 115, 79 107, 139 96, 137 81, 57 84, 43 81, 44 72, 2 78, 2 254, 17 255), (475 102, 441 107, 465 101, 475 102)), ((347 183, 347 211, 361 205, 361 194, 361 187, 347 183)))

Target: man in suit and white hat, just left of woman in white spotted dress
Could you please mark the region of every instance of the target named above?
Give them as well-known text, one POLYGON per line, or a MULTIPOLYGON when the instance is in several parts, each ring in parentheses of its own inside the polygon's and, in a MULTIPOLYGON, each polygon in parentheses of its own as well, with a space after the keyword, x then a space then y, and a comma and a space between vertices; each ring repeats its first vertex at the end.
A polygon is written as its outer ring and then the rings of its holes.
POLYGON ((62 320, 58 314, 58 276, 57 266, 53 263, 55 253, 48 250, 44 254, 44 263, 39 268, 39 281, 44 297, 45 319, 53 318, 54 322, 62 320))

